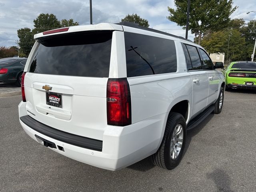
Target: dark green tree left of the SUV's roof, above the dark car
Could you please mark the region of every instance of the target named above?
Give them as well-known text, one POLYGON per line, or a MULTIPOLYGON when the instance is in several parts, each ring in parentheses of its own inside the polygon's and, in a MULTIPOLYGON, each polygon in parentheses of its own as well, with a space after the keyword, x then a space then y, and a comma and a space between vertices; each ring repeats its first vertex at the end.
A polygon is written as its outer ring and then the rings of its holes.
POLYGON ((20 52, 22 52, 26 57, 28 57, 30 50, 34 44, 34 33, 30 28, 21 28, 17 30, 18 38, 20 39, 19 47, 20 52))

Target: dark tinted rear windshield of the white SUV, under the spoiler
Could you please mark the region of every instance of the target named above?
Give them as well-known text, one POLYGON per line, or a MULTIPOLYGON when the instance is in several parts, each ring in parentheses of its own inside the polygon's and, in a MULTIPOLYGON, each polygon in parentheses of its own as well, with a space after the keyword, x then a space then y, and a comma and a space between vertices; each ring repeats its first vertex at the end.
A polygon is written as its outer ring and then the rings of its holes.
POLYGON ((108 77, 112 31, 79 32, 38 41, 30 72, 108 77))

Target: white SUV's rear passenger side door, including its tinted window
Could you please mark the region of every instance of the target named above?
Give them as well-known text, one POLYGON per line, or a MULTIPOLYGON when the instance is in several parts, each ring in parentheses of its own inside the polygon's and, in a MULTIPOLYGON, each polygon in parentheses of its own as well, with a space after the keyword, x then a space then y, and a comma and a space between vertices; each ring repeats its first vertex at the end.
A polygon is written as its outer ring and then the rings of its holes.
POLYGON ((191 74, 191 81, 193 86, 193 103, 191 118, 202 112, 207 106, 208 98, 208 73, 202 70, 202 64, 198 50, 195 46, 182 44, 186 64, 189 73, 191 74))

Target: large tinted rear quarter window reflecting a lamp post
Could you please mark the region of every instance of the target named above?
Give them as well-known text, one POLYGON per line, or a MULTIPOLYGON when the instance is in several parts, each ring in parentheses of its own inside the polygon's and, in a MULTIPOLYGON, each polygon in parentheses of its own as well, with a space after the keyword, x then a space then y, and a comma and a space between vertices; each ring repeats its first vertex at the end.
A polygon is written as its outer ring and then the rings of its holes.
POLYGON ((124 32, 127 77, 177 71, 173 40, 124 32))

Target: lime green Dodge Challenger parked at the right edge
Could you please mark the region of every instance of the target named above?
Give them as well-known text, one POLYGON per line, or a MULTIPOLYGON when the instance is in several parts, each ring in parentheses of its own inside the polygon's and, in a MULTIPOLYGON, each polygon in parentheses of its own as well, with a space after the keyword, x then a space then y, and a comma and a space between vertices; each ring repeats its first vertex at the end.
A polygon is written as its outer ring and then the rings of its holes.
POLYGON ((256 89, 256 62, 231 62, 224 70, 226 88, 256 89))

